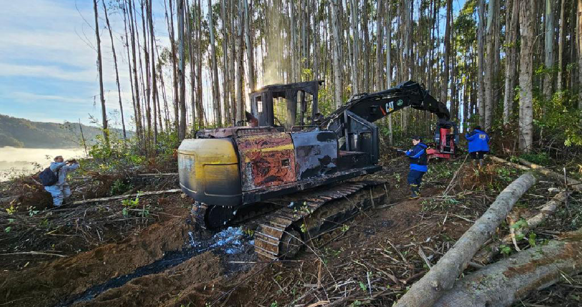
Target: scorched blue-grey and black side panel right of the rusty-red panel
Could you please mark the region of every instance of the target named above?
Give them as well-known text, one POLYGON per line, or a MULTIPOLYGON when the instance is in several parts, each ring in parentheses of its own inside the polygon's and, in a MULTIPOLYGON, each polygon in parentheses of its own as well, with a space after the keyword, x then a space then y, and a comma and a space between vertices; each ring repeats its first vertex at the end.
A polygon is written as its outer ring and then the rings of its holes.
POLYGON ((332 131, 292 133, 297 180, 323 176, 338 170, 338 138, 332 131))

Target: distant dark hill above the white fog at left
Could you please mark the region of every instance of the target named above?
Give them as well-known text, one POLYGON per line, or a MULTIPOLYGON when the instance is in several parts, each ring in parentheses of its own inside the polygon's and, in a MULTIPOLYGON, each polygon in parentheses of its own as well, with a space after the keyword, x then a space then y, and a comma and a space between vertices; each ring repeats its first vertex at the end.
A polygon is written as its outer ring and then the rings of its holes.
MULTIPOLYGON (((87 145, 95 144, 95 135, 101 134, 101 130, 93 126, 81 126, 87 145)), ((119 133, 119 130, 112 132, 119 133)), ((0 147, 78 148, 81 145, 79 123, 32 122, 0 114, 0 147)))

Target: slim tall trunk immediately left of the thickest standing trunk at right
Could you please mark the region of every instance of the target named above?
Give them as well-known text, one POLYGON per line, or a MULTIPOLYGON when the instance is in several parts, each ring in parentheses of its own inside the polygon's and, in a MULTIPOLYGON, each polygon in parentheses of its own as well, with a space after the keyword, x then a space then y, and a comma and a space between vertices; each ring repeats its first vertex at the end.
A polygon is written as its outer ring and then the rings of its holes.
POLYGON ((517 73, 517 28, 519 27, 520 0, 508 0, 506 14, 505 95, 503 95, 503 124, 509 124, 513 110, 515 76, 517 73), (511 11, 511 12, 510 12, 511 11))

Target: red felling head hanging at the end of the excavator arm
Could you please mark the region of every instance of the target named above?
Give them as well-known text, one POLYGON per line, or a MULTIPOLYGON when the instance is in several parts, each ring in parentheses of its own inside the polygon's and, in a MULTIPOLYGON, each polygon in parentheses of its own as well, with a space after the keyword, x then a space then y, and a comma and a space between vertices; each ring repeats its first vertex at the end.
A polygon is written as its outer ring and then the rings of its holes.
POLYGON ((448 120, 439 120, 435 129, 434 144, 431 144, 432 146, 427 149, 428 159, 455 158, 458 142, 457 124, 448 120))

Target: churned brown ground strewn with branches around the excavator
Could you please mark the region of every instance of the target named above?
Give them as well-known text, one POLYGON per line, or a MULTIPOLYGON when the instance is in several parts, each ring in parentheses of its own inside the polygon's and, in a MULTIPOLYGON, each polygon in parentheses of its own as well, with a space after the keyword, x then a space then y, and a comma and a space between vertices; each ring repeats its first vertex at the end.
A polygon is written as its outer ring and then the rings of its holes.
MULTIPOLYGON (((46 198, 34 191, 34 183, 12 184, 3 193, 20 198, 0 204, 0 224, 10 227, 0 231, 0 305, 389 306, 520 174, 494 164, 474 170, 465 163, 452 181, 462 162, 432 163, 423 198, 409 200, 407 161, 386 160, 382 172, 365 178, 387 180, 391 203, 376 204, 379 208, 310 242, 285 263, 257 262, 246 229, 194 230, 188 223, 192 200, 182 194, 141 197, 123 215, 121 201, 42 210, 46 198)), ((74 197, 107 196, 120 182, 127 193, 176 186, 176 178, 101 176, 73 181, 74 197)), ((552 187, 559 185, 551 180, 535 185, 514 215, 537 213, 555 195, 548 191, 552 187)), ((580 208, 581 197, 574 194, 567 209, 535 230, 536 240, 542 244, 579 228, 580 208)), ((506 233, 503 224, 497 236, 506 233)), ((521 248, 527 245, 520 242, 521 248)), ((580 281, 563 281, 515 306, 579 306, 580 281)))

